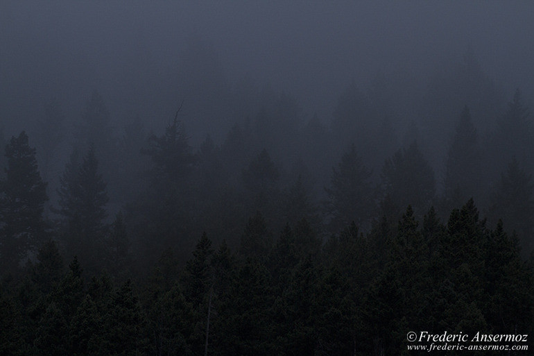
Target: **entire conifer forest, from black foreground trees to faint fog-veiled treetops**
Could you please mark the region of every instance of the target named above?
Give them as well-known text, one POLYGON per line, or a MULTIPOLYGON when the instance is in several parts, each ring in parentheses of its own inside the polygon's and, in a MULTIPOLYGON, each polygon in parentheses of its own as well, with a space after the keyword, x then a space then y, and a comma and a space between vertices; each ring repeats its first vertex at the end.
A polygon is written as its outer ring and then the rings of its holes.
POLYGON ((488 92, 446 103, 440 164, 355 83, 330 127, 268 92, 198 147, 180 110, 120 131, 93 92, 60 172, 51 101, 40 150, 0 135, 0 351, 394 355, 407 330, 531 332, 534 133, 517 90, 479 134, 488 92))

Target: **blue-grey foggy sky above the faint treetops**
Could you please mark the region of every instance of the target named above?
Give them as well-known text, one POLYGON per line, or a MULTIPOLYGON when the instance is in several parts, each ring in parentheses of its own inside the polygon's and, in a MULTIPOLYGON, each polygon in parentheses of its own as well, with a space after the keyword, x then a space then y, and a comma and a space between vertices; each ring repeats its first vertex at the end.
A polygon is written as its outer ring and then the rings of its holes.
POLYGON ((415 115, 429 76, 467 49, 508 98, 520 87, 531 103, 533 19, 531 1, 1 1, 0 119, 11 135, 55 96, 76 121, 96 89, 115 121, 157 128, 183 100, 196 131, 188 101, 202 90, 180 85, 207 68, 229 90, 248 78, 289 93, 325 122, 351 80, 365 90, 385 76, 415 115))

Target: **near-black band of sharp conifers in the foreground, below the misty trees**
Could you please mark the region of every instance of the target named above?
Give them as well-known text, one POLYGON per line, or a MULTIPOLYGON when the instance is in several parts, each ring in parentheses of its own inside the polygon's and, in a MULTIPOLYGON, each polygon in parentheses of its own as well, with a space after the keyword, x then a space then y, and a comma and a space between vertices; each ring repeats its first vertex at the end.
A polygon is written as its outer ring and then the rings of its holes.
POLYGON ((64 271, 49 241, 0 285, 0 353, 402 355, 411 330, 533 331, 531 266, 472 200, 446 224, 408 207, 383 244, 378 231, 352 223, 321 246, 302 221, 261 255, 203 234, 187 263, 165 253, 137 282, 89 278, 76 259, 64 271))

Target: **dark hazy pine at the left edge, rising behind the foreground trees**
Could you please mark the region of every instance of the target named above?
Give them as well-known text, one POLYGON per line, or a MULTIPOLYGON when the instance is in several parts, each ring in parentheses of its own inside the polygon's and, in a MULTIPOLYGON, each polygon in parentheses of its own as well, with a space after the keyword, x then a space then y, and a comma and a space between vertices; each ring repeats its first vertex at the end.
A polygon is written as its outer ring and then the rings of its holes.
POLYGON ((15 271, 19 262, 44 238, 46 183, 41 179, 35 149, 21 132, 6 146, 6 178, 0 181, 1 272, 15 271))

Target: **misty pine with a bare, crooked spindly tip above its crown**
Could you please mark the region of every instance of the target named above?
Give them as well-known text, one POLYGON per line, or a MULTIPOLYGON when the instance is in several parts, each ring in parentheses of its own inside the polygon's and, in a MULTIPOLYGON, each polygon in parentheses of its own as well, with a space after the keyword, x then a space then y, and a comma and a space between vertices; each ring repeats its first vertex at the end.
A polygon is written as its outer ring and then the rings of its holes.
POLYGON ((148 155, 152 162, 148 172, 151 181, 131 212, 137 214, 133 217, 135 226, 132 228, 140 235, 144 255, 155 259, 162 248, 177 246, 179 251, 186 251, 183 243, 189 244, 191 240, 177 237, 192 234, 193 213, 198 201, 191 191, 191 173, 197 158, 191 153, 188 137, 178 121, 178 112, 164 135, 150 136, 148 148, 142 149, 141 153, 148 155), (178 245, 180 243, 182 245, 178 245))

